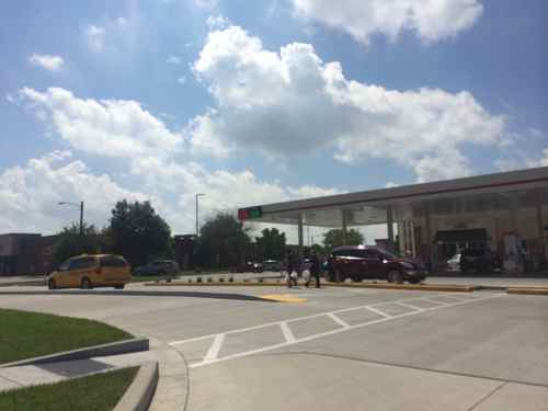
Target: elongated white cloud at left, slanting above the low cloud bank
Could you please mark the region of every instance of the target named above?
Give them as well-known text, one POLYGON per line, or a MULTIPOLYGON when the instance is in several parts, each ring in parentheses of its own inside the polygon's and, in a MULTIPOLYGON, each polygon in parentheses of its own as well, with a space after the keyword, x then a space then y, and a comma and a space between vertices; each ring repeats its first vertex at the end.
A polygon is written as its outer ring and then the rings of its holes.
POLYGON ((162 156, 181 149, 182 135, 133 100, 79 99, 70 91, 19 91, 36 114, 75 149, 106 157, 162 156), (42 114, 39 114, 42 113, 42 114))

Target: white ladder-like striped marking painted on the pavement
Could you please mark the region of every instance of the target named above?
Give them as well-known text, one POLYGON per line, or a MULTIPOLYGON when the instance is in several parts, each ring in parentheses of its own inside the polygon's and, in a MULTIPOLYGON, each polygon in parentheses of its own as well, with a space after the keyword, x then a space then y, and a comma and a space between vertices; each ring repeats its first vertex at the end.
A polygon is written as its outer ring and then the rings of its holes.
POLYGON ((388 304, 395 304, 395 302, 396 304, 402 302, 402 304, 400 304, 400 306, 402 306, 402 307, 403 306, 408 306, 409 308, 411 308, 412 305, 408 305, 408 304, 406 304, 406 301, 430 300, 431 298, 433 298, 435 296, 432 296, 432 297, 429 296, 429 297, 408 298, 408 299, 402 299, 402 300, 398 300, 398 301, 384 301, 384 302, 377 302, 377 304, 373 304, 373 305, 368 305, 368 306, 343 308, 343 309, 340 309, 340 310, 334 310, 334 311, 329 311, 329 312, 321 312, 321 313, 317 313, 317 315, 312 315, 312 316, 306 316, 306 317, 299 317, 299 318, 295 318, 295 319, 290 319, 290 320, 275 321, 275 322, 270 322, 270 323, 265 323, 265 324, 261 324, 261 326, 255 326, 255 327, 248 327, 248 328, 238 329, 238 330, 230 330, 230 331, 227 331, 227 332, 220 333, 220 334, 217 333, 217 334, 203 335, 203 336, 198 336, 198 338, 194 338, 194 339, 187 339, 187 340, 182 340, 182 341, 174 341, 174 342, 171 342, 170 345, 179 345, 179 344, 184 344, 184 343, 187 343, 187 342, 199 341, 199 340, 205 340, 205 339, 209 339, 212 336, 215 336, 215 340, 214 340, 212 346, 209 347, 206 356, 201 362, 190 364, 191 368, 196 368, 196 367, 202 367, 202 366, 209 365, 209 364, 215 364, 215 363, 218 363, 218 362, 224 362, 224 361, 229 361, 229 359, 233 359, 233 358, 239 358, 239 357, 243 357, 243 356, 248 356, 248 355, 253 355, 253 354, 262 353, 262 352, 265 352, 265 351, 272 351, 272 350, 276 350, 276 349, 289 346, 289 345, 293 345, 293 344, 298 344, 298 343, 301 343, 301 342, 307 342, 307 341, 320 339, 320 338, 328 336, 328 335, 338 334, 340 332, 344 332, 344 331, 349 331, 349 330, 353 330, 353 329, 357 329, 357 328, 368 327, 368 326, 373 326, 373 324, 377 324, 377 323, 381 323, 381 322, 386 322, 386 321, 390 321, 390 320, 395 320, 395 319, 400 319, 400 318, 404 318, 404 317, 411 317, 411 316, 420 315, 420 313, 423 313, 423 312, 426 312, 426 311, 435 311, 435 310, 438 310, 438 309, 443 309, 445 307, 455 307, 455 306, 471 304, 471 302, 476 302, 476 301, 483 301, 483 300, 488 300, 488 299, 492 299, 492 298, 498 298, 498 297, 503 297, 503 296, 505 296, 505 295, 504 294, 494 294, 494 295, 490 295, 488 297, 480 297, 480 298, 467 299, 467 300, 464 300, 464 301, 459 300, 457 302, 444 302, 443 304, 443 302, 436 301, 436 302, 439 302, 438 306, 434 306, 434 307, 430 307, 430 308, 421 308, 421 309, 419 309, 418 307, 413 306, 412 311, 408 311, 408 312, 403 312, 403 313, 395 315, 395 316, 389 316, 389 315, 385 313, 381 310, 381 306, 388 305, 388 304), (375 308, 375 307, 377 307, 377 308, 375 308), (366 321, 366 322, 363 322, 363 323, 358 323, 358 324, 350 326, 350 324, 347 324, 345 321, 341 320, 336 316, 338 312, 347 312, 347 311, 353 311, 353 310, 356 310, 356 309, 367 309, 367 310, 369 310, 372 312, 375 312, 375 313, 381 316, 381 318, 376 319, 376 320, 369 320, 369 321, 366 321), (296 321, 306 320, 306 319, 313 319, 313 318, 319 318, 319 317, 331 318, 333 321, 335 321, 340 326, 342 326, 342 328, 338 328, 335 330, 320 332, 320 333, 316 333, 316 334, 307 335, 307 336, 302 336, 302 338, 295 338, 292 329, 289 328, 289 323, 290 322, 296 322, 296 321), (339 322, 334 318, 339 319, 341 322, 339 322), (343 323, 346 327, 343 326, 343 323), (279 326, 279 328, 282 330, 282 333, 284 334, 285 342, 277 343, 277 344, 272 344, 272 345, 266 345, 266 346, 263 346, 263 347, 260 347, 260 349, 254 349, 254 350, 249 350, 249 351, 242 351, 240 353, 236 353, 236 354, 231 354, 231 355, 226 355, 226 356, 222 356, 222 357, 218 357, 218 353, 219 353, 220 346, 221 346, 221 344, 225 341, 225 338, 227 335, 230 335, 230 334, 233 334, 233 333, 241 333, 241 332, 244 332, 244 331, 258 330, 258 329, 271 327, 273 324, 279 326))

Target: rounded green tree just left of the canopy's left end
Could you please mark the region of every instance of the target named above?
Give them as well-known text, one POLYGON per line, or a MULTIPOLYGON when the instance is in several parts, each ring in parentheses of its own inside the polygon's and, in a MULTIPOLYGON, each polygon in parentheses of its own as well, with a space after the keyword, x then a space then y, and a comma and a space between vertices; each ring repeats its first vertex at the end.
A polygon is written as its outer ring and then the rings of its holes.
POLYGON ((242 262, 251 242, 248 230, 232 213, 221 212, 199 230, 197 259, 202 266, 233 267, 242 262))

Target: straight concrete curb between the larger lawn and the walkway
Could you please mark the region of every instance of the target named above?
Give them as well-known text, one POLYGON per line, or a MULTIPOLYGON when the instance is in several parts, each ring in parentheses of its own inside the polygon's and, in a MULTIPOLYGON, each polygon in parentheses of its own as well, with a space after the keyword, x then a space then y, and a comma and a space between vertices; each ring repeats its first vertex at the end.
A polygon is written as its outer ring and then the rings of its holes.
POLYGON ((1 364, 0 368, 19 367, 21 365, 57 363, 61 361, 88 359, 92 357, 104 357, 109 355, 136 353, 148 350, 148 339, 130 339, 109 344, 89 346, 85 349, 65 351, 62 353, 44 355, 34 358, 21 359, 14 363, 1 364))

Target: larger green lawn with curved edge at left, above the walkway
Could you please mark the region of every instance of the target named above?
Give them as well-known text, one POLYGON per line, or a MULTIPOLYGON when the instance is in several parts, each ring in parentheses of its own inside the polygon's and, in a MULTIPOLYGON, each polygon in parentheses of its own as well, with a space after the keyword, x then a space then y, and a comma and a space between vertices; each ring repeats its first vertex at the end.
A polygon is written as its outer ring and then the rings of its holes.
POLYGON ((0 309, 0 364, 130 338, 99 321, 0 309))

